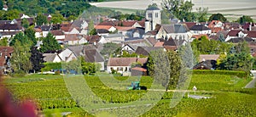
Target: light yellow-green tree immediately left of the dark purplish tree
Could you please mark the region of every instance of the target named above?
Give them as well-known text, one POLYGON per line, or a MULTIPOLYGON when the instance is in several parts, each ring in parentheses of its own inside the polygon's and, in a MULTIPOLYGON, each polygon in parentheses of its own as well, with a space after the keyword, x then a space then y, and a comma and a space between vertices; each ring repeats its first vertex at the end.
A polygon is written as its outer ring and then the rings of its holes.
POLYGON ((12 53, 11 64, 15 73, 28 73, 32 69, 30 61, 30 45, 27 43, 21 44, 19 40, 15 42, 15 51, 12 53))

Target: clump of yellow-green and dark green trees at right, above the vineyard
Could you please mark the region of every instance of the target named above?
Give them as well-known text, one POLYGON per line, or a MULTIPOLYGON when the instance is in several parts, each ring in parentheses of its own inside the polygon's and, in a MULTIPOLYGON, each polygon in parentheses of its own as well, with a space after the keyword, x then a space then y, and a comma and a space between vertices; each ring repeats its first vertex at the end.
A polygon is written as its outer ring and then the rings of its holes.
POLYGON ((194 55, 220 54, 217 60, 218 70, 244 70, 253 69, 254 58, 251 56, 247 42, 238 44, 209 40, 207 36, 201 36, 191 43, 194 55))

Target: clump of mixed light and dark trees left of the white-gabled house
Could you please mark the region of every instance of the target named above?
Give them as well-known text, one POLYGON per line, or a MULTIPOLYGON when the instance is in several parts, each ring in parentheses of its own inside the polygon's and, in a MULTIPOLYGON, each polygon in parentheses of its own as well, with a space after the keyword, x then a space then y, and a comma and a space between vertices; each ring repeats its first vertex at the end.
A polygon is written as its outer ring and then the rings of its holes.
MULTIPOLYGON (((5 40, 7 39, 1 40, 1 42, 5 40)), ((34 47, 37 44, 38 38, 35 37, 35 31, 32 27, 27 28, 24 33, 20 32, 10 38, 9 46, 15 48, 11 58, 11 64, 15 73, 28 73, 30 70, 33 72, 40 71, 44 67, 43 53, 61 49, 60 44, 50 33, 41 40, 43 40, 43 45, 38 50, 37 47, 34 47)), ((3 46, 8 46, 8 40, 6 45, 3 46)))

